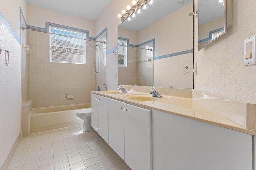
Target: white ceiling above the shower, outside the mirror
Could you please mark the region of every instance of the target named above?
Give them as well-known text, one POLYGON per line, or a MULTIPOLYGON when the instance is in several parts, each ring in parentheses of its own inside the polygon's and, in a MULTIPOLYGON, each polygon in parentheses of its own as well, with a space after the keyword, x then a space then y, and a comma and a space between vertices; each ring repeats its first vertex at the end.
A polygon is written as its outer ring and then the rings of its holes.
POLYGON ((26 0, 29 5, 95 21, 111 0, 26 0))

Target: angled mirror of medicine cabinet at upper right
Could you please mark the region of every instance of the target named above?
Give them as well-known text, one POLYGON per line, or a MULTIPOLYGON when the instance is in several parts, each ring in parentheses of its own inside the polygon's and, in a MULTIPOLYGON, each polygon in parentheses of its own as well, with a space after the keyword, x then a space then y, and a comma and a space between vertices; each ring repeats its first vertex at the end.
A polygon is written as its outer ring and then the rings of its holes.
POLYGON ((198 0, 198 51, 226 33, 232 24, 232 0, 198 0))

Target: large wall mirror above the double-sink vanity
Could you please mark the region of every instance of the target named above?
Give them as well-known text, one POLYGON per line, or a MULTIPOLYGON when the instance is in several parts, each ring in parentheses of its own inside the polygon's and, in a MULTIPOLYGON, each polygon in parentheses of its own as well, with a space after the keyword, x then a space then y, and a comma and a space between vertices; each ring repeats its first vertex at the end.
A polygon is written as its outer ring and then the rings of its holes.
POLYGON ((193 88, 190 12, 193 0, 153 0, 123 21, 118 26, 118 84, 193 88))

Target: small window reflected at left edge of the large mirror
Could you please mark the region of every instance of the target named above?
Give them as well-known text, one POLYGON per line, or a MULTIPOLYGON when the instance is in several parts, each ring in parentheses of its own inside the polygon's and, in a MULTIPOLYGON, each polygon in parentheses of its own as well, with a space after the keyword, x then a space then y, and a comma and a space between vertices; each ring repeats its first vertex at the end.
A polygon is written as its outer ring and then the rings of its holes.
POLYGON ((127 66, 127 45, 126 40, 118 39, 118 66, 127 66))

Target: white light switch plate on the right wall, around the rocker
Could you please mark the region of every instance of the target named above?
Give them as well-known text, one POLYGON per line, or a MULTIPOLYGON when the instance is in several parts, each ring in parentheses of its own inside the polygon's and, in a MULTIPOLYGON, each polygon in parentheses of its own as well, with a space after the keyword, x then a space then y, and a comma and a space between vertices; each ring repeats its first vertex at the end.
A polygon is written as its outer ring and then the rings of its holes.
POLYGON ((248 39, 244 40, 244 65, 254 65, 256 64, 256 57, 255 57, 255 50, 256 50, 256 43, 255 43, 256 35, 249 37, 248 39), (246 59, 246 44, 252 42, 252 58, 246 59))

